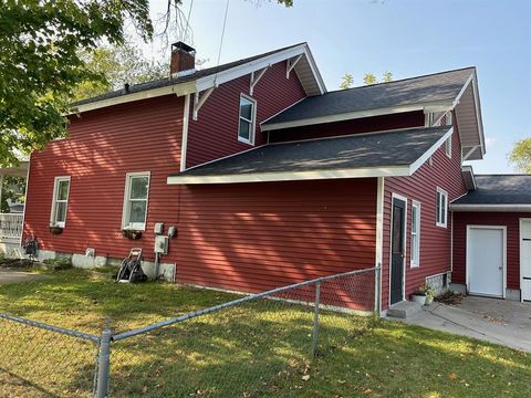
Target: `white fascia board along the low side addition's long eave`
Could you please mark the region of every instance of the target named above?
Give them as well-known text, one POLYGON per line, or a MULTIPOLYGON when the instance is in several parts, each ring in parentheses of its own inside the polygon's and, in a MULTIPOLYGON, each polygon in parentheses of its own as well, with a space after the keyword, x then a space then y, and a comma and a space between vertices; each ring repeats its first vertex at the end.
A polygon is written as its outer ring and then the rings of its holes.
POLYGON ((315 171, 279 171, 253 172, 230 176, 170 176, 168 185, 197 185, 197 184, 238 184, 238 182, 270 182, 294 180, 320 180, 340 178, 367 178, 367 177, 399 177, 408 176, 409 166, 366 167, 336 170, 315 171))

